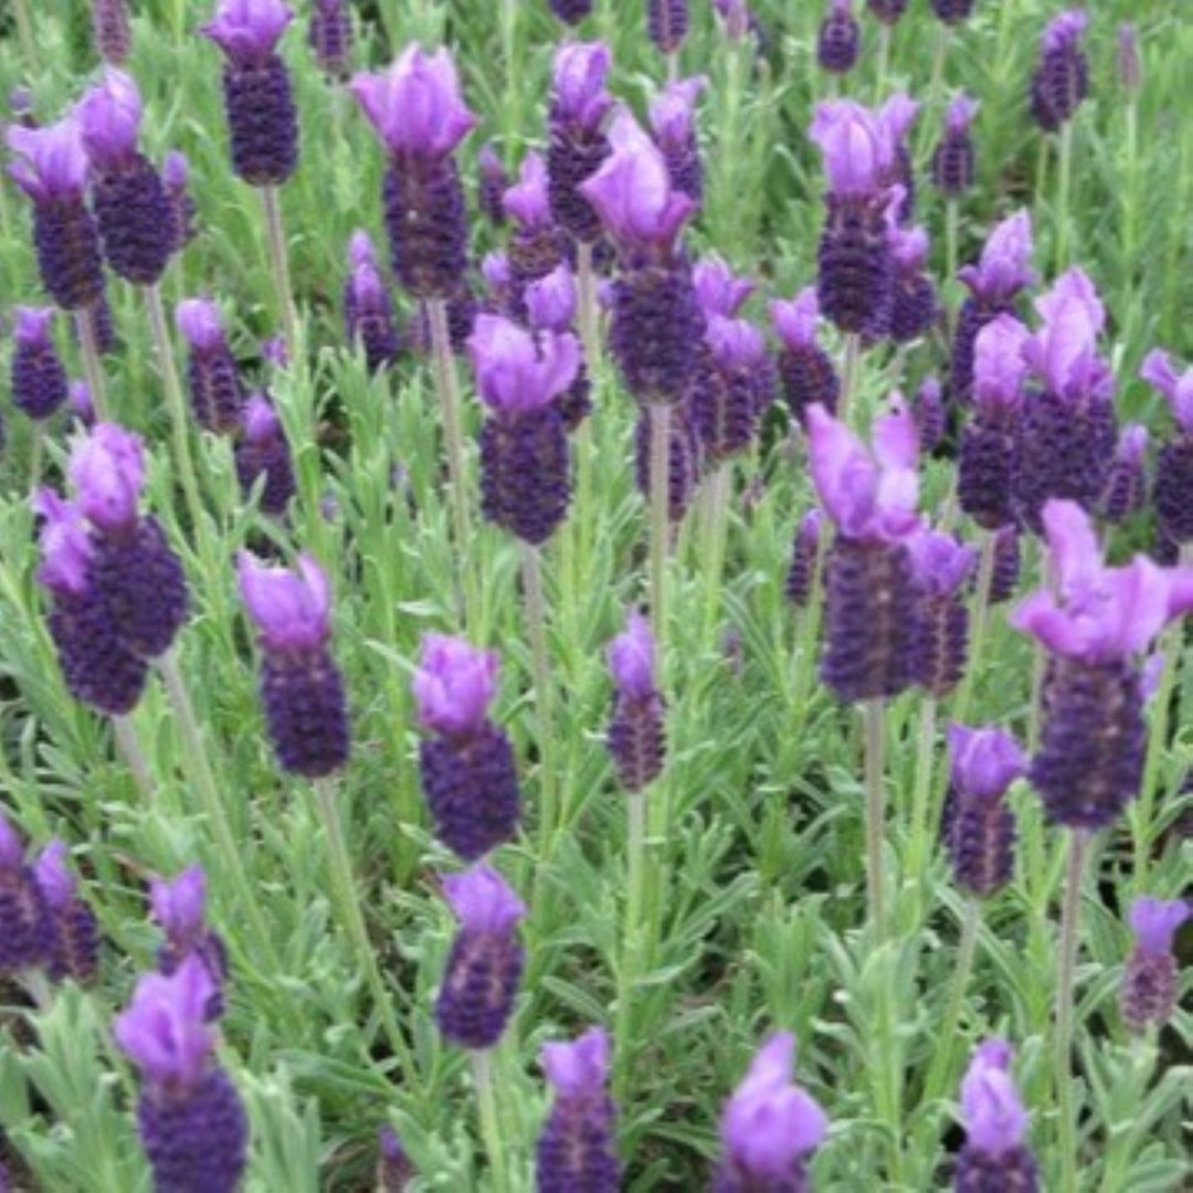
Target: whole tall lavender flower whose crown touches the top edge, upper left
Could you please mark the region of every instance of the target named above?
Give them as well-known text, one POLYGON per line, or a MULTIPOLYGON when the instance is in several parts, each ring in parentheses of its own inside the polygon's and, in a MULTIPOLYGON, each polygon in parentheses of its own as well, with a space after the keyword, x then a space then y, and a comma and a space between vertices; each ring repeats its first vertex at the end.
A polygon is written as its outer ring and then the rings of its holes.
POLYGON ((280 186, 298 165, 298 112, 277 47, 293 12, 283 0, 218 0, 199 30, 223 50, 231 166, 249 186, 280 186))

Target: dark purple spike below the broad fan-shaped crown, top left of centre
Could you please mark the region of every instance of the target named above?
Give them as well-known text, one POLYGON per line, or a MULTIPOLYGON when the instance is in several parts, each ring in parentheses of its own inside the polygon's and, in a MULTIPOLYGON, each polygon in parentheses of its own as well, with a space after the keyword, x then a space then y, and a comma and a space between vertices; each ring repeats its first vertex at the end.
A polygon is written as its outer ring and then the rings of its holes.
POLYGON ((468 233, 455 159, 390 163, 382 203, 397 280, 415 298, 456 295, 468 267, 468 233))

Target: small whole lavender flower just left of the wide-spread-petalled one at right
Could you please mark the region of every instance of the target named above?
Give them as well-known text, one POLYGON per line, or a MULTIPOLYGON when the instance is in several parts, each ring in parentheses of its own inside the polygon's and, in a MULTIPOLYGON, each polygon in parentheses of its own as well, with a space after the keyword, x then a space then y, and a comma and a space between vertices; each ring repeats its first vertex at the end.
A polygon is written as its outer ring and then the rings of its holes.
POLYGON ((1027 772, 1027 759, 1001 729, 948 727, 948 793, 940 833, 953 882, 988 898, 1010 882, 1015 865, 1015 817, 1007 789, 1027 772))

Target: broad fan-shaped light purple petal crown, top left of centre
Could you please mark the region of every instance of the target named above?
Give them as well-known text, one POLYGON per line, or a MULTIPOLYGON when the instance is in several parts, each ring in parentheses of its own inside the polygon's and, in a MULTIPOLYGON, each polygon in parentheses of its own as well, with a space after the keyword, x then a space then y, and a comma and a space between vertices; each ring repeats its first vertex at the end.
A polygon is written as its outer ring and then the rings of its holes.
POLYGON ((382 74, 354 75, 348 89, 395 156, 445 157, 476 124, 446 49, 408 45, 382 74))

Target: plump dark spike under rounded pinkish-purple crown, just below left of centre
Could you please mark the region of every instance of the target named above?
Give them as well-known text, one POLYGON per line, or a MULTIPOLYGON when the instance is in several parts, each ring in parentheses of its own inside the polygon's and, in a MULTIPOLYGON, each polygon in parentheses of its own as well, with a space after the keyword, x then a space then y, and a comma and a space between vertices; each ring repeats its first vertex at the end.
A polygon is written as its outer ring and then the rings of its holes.
POLYGON ((435 836, 453 853, 475 861, 513 839, 521 796, 501 729, 484 723, 458 740, 425 737, 419 767, 435 836))

